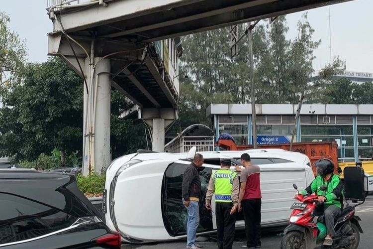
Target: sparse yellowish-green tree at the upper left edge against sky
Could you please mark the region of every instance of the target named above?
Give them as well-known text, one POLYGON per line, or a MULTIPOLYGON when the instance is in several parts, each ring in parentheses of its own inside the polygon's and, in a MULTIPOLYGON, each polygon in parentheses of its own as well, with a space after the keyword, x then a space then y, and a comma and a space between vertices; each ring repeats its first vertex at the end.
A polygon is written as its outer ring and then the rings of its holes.
POLYGON ((15 82, 9 78, 23 68, 26 56, 24 42, 9 29, 9 21, 9 16, 0 11, 0 96, 15 82))

